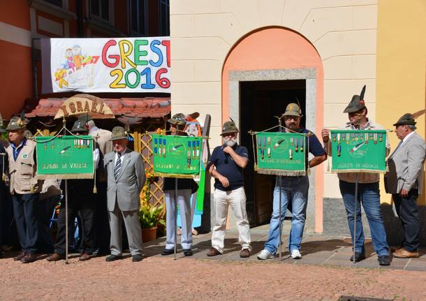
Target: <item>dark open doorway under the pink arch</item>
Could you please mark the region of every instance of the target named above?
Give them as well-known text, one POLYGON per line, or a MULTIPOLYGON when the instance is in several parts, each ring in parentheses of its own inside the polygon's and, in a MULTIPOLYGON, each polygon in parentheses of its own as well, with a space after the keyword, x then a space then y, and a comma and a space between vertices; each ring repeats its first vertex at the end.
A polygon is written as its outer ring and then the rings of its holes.
MULTIPOLYGON (((274 116, 281 116, 288 103, 298 101, 304 115, 305 80, 240 82, 240 140, 241 145, 249 150, 250 163, 244 170, 244 187, 247 194, 247 215, 251 226, 270 221, 275 176, 259 175, 254 171, 253 146, 248 132, 264 131, 277 126, 278 119, 274 116)), ((305 126, 304 117, 300 125, 305 126)))

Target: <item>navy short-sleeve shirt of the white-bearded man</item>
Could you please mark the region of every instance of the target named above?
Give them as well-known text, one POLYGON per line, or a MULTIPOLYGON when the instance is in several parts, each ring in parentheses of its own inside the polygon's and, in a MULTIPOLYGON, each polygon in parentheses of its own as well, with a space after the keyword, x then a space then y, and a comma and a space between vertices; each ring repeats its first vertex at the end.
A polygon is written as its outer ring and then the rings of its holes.
MULTIPOLYGON (((249 152, 247 152, 246 147, 237 145, 234 148, 234 152, 239 156, 249 159, 249 152)), ((223 152, 223 145, 213 149, 210 162, 214 164, 216 171, 229 181, 229 186, 225 188, 219 179, 214 179, 214 188, 221 191, 231 191, 244 186, 244 168, 238 166, 229 154, 223 152)))

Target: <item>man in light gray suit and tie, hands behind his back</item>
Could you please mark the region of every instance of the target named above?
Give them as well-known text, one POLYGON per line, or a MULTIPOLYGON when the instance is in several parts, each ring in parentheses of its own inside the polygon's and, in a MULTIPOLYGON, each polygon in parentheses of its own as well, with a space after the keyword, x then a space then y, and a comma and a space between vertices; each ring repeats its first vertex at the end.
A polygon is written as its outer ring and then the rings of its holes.
POLYGON ((114 152, 105 155, 108 174, 107 206, 110 216, 111 255, 106 261, 122 258, 122 221, 126 226, 132 261, 142 260, 142 230, 139 221, 139 193, 145 184, 142 156, 127 148, 127 133, 115 126, 111 135, 114 152))

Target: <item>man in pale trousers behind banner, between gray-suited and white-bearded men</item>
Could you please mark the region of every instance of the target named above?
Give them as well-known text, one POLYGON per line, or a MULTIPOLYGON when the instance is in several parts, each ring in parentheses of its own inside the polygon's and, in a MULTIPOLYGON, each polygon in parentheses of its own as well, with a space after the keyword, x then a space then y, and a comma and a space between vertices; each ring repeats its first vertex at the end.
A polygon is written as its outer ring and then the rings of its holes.
MULTIPOLYGON (((171 135, 187 135, 184 132, 186 117, 182 113, 177 113, 168 119, 171 135)), ((166 199, 166 248, 161 251, 161 255, 167 256, 175 252, 176 235, 176 206, 179 206, 182 222, 182 235, 180 244, 184 256, 192 256, 192 226, 191 226, 191 194, 198 190, 198 184, 193 179, 175 179, 164 177, 163 191, 166 199), (177 189, 176 189, 177 181, 177 189), (175 191, 177 190, 177 196, 175 191)))

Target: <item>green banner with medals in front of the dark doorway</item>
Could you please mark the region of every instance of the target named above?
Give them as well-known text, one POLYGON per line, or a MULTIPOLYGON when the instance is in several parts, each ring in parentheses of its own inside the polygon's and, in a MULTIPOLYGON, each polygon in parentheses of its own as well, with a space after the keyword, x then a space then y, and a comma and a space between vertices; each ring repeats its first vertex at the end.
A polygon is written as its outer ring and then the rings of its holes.
POLYGON ((256 133, 257 172, 266 175, 306 175, 306 141, 302 133, 256 133))

